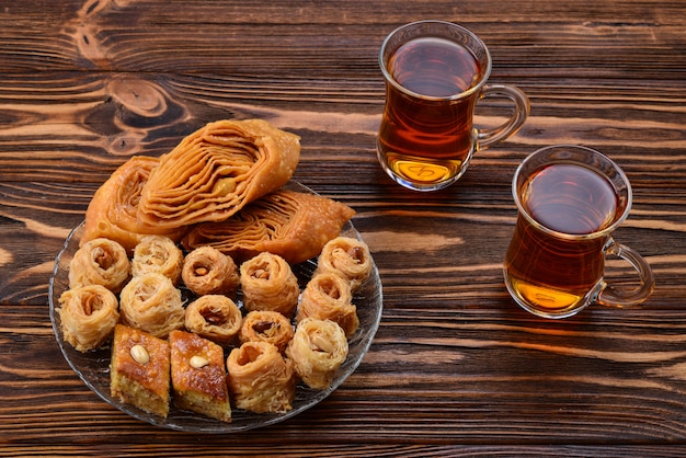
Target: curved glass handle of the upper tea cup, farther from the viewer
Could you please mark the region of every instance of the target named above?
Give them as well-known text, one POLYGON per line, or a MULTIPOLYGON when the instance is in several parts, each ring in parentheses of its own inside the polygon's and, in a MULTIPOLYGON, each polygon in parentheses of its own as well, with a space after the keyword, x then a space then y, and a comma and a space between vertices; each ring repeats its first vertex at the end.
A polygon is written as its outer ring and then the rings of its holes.
POLYGON ((499 127, 477 130, 477 149, 487 149, 491 145, 514 135, 524 125, 529 115, 529 99, 519 88, 508 84, 485 84, 480 99, 504 98, 514 102, 515 111, 510 118, 499 127))

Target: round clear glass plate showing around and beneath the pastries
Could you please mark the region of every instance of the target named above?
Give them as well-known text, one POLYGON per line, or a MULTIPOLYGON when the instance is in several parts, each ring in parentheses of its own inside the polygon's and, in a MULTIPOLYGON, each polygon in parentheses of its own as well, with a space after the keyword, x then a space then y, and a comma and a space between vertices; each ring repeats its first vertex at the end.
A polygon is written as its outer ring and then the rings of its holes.
MULTIPOLYGON (((298 183, 291 182, 288 185, 288 188, 313 194, 311 190, 298 183)), ((233 409, 231 423, 221 422, 202 414, 180 410, 174 407, 173 401, 170 402, 169 416, 167 419, 162 419, 137 409, 134 405, 119 402, 110 396, 110 357, 112 351, 110 344, 105 344, 95 351, 81 353, 76 351, 64 340, 59 313, 56 312, 55 308, 59 307, 59 296, 69 288, 69 262, 79 249, 79 240, 81 239, 82 233, 83 224, 77 226, 71 231, 69 237, 67 237, 62 250, 55 260, 55 268, 49 282, 50 320, 53 321, 53 329, 55 331, 57 342, 59 343, 59 347, 61 348, 65 358, 73 371, 77 373, 81 380, 83 380, 85 386, 93 390, 103 400, 119 409, 122 412, 157 426, 187 432, 232 433, 271 425, 295 416, 298 413, 317 405, 355 371, 367 353, 367 350, 371 344, 371 340, 374 339, 374 335, 379 327, 382 309, 381 280, 379 278, 378 270, 376 265, 374 265, 371 275, 362 285, 362 287, 355 291, 353 297, 353 304, 357 307, 359 328, 348 340, 350 352, 347 358, 336 371, 333 382, 328 389, 313 390, 300 382, 296 389, 293 410, 286 413, 258 414, 244 410, 233 409)), ((351 222, 347 222, 343 227, 341 236, 362 240, 362 237, 351 222)), ((293 266, 293 272, 298 277, 301 289, 305 287, 316 268, 317 260, 306 261, 301 264, 293 266)), ((242 309, 240 294, 236 302, 242 309)), ((230 347, 225 350, 226 355, 228 355, 230 347)))

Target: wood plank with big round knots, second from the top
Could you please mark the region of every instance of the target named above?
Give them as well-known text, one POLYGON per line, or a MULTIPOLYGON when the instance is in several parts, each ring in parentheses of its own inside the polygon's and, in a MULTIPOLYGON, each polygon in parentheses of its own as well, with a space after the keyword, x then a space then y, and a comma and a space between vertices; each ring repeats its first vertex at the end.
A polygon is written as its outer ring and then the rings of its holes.
MULTIPOLYGON (((334 89, 325 78, 279 83, 216 76, 0 76, 0 180, 43 180, 59 168, 64 172, 58 175, 69 181, 102 183, 128 157, 159 156, 224 117, 262 117, 299 134, 304 164, 317 160, 333 165, 341 154, 370 164, 382 82, 338 83, 334 89)), ((499 165, 511 168, 539 147, 579 142, 611 156, 632 181, 651 173, 649 182, 671 185, 683 172, 683 82, 659 91, 621 81, 556 85, 545 78, 518 85, 530 94, 529 121, 506 144, 479 153, 476 163, 501 161, 499 165)), ((502 104, 484 101, 479 106, 482 125, 502 119, 502 104)))

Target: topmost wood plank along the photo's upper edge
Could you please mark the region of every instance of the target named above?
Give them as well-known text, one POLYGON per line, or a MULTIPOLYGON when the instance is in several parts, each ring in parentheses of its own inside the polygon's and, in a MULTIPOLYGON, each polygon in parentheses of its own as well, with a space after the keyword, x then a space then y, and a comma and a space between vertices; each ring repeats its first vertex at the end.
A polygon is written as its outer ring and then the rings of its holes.
POLYGON ((683 75, 676 59, 684 50, 685 22, 678 1, 598 4, 585 0, 572 5, 549 2, 546 7, 515 1, 507 4, 507 27, 500 30, 491 24, 504 12, 490 11, 475 1, 460 2, 457 8, 447 0, 404 8, 368 1, 305 2, 294 8, 281 3, 265 8, 245 2, 184 2, 179 7, 183 15, 171 7, 175 3, 159 0, 90 1, 80 9, 77 3, 70 8, 45 5, 47 11, 15 3, 0 16, 4 31, 0 35, 0 60, 3 71, 11 72, 77 68, 375 75, 376 54, 386 34, 404 22, 438 16, 482 35, 491 47, 495 69, 536 69, 538 75, 548 71, 549 77, 557 78, 683 75), (53 20, 42 20, 44 14, 53 20), (655 72, 655 68, 661 71, 655 72))

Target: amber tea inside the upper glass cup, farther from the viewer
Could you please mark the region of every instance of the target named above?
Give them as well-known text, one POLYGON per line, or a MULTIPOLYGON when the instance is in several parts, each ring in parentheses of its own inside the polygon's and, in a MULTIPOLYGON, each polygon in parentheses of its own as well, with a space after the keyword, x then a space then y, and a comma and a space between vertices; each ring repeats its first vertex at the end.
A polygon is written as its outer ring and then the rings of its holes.
POLYGON ((392 78, 425 98, 390 91, 379 142, 388 167, 408 180, 438 183, 458 172, 473 146, 473 102, 450 98, 478 80, 479 62, 457 43, 418 38, 402 45, 388 64, 392 78))

